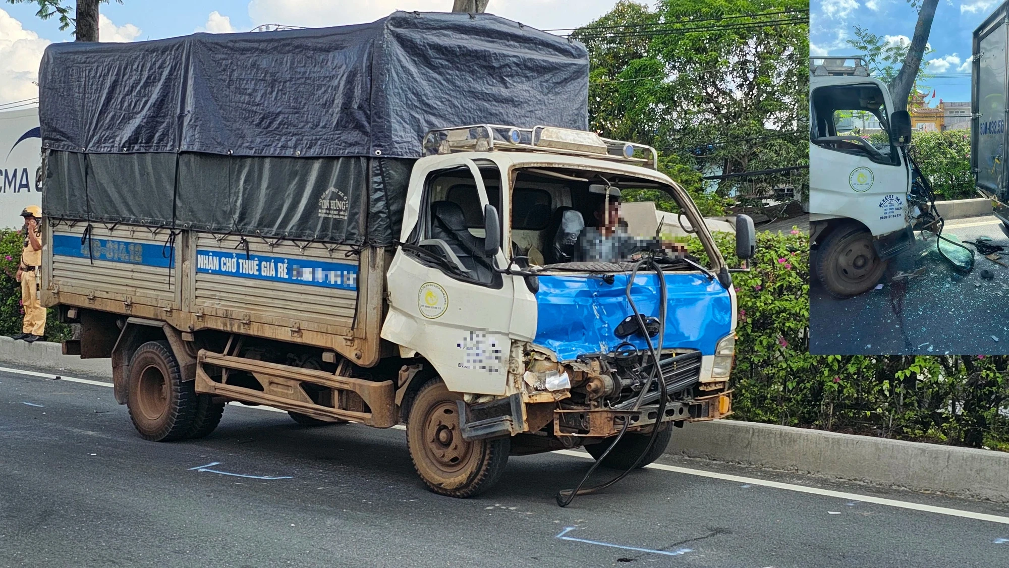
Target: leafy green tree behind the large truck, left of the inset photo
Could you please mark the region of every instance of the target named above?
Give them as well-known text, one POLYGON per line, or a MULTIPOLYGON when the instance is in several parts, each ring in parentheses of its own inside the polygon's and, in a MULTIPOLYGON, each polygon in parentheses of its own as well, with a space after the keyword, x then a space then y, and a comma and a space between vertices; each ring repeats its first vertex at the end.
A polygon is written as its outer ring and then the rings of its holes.
MULTIPOLYGON (((808 163, 807 2, 662 0, 652 10, 623 0, 572 36, 588 47, 589 120, 604 136, 705 176, 808 163)), ((807 180, 790 181, 801 193, 807 180)), ((723 179, 717 194, 752 187, 723 179)), ((718 196, 699 180, 691 193, 720 213, 724 200, 708 202, 718 196)))

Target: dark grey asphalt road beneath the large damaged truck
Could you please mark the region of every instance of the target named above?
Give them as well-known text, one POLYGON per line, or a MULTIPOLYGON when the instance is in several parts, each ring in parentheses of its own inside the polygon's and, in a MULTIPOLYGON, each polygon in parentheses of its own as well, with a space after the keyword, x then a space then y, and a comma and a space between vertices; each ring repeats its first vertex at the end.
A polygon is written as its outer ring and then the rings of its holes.
POLYGON ((0 566, 1009 565, 1009 506, 667 460, 1003 523, 660 469, 559 508, 588 463, 513 458, 488 493, 452 499, 422 487, 401 430, 228 407, 210 437, 155 444, 107 386, 0 371, 0 566), (192 469, 212 462, 287 478, 192 469))

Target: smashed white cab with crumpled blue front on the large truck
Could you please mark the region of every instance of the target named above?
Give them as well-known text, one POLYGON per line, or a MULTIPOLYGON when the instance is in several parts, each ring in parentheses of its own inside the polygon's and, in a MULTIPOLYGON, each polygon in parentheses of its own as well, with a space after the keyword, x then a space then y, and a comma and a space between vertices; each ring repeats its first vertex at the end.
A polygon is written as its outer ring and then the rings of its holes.
MULTIPOLYGON (((737 305, 727 265, 687 194, 654 169, 652 148, 491 125, 435 131, 426 146, 432 155, 414 166, 388 267, 381 337, 401 357, 423 358, 445 401, 459 397, 453 420, 467 441, 508 436, 514 453, 584 445, 601 455, 627 430, 612 459, 633 463, 653 430, 663 436, 655 448, 664 448, 669 425, 731 413, 737 305), (601 185, 613 194, 668 191, 697 228, 708 265, 670 259, 660 268, 663 287, 647 264, 632 274, 627 259, 577 261, 575 241, 596 223, 592 198, 602 196, 591 192, 601 185), (635 305, 648 326, 664 320, 662 334, 642 333, 635 305), (668 404, 657 381, 646 385, 653 355, 668 404), (641 404, 643 388, 650 392, 641 404)), ((752 251, 752 228, 742 239, 752 251)), ((410 411, 408 436, 417 422, 428 425, 417 427, 416 445, 438 439, 432 420, 440 419, 410 411)), ((436 443, 419 470, 448 476, 453 464, 440 451, 436 443)))

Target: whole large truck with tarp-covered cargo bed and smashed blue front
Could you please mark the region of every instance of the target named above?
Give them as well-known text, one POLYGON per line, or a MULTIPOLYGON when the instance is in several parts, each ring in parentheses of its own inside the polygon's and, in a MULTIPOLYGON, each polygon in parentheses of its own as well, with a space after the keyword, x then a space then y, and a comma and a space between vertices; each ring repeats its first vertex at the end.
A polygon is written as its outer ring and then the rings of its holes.
POLYGON ((49 45, 42 298, 82 327, 65 351, 111 357, 152 441, 237 401, 406 424, 452 496, 510 455, 649 463, 732 412, 736 297, 655 150, 587 130, 587 90, 581 44, 489 14, 49 45), (579 258, 635 188, 668 193, 705 258, 579 258))

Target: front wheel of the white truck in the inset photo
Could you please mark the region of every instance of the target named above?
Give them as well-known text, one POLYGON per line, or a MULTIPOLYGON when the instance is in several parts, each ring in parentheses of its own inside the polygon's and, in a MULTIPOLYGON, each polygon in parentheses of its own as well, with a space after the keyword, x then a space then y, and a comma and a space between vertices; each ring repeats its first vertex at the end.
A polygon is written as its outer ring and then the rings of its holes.
POLYGON ((873 246, 873 235, 855 226, 838 227, 816 251, 816 276, 834 298, 852 298, 872 290, 886 271, 873 246))

